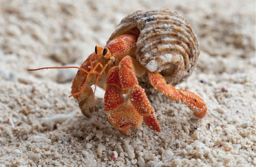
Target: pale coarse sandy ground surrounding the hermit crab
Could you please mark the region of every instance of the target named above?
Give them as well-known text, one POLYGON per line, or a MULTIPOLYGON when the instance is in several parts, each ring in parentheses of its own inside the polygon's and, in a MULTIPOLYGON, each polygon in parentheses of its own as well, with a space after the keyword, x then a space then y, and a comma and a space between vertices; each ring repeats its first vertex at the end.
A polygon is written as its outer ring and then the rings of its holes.
MULTIPOLYGON (((0 1, 0 166, 256 166, 256 1, 0 1), (169 8, 198 35, 198 68, 177 89, 200 95, 196 118, 157 91, 160 133, 121 135, 103 99, 85 118, 68 98, 76 70, 135 10, 169 8), (117 159, 112 159, 117 154, 117 159)), ((103 97, 103 92, 97 95, 103 97)))

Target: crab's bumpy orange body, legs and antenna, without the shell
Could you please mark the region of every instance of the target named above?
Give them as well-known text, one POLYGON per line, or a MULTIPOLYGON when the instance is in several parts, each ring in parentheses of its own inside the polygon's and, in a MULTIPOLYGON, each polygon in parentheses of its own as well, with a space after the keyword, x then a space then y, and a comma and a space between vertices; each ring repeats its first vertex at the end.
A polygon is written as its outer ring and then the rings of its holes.
MULTIPOLYGON (((147 14, 143 16, 149 17, 147 14)), ((134 27, 111 39, 105 48, 96 46, 95 52, 89 55, 80 68, 45 67, 41 69, 79 69, 72 84, 70 97, 76 98, 81 111, 87 116, 94 110, 95 90, 93 91, 91 86, 96 85, 105 89, 104 111, 107 120, 125 135, 131 135, 130 126, 139 129, 143 120, 150 129, 160 131, 154 109, 138 82, 138 78, 142 76, 147 78, 155 89, 164 93, 170 100, 186 104, 197 117, 203 118, 207 109, 206 104, 199 96, 190 91, 177 90, 172 85, 167 84, 157 70, 152 70, 154 66, 149 65, 147 68, 147 66, 141 65, 138 56, 136 56, 139 35, 140 29, 134 27), (125 94, 128 95, 128 99, 123 96, 125 94)), ((160 42, 162 43, 162 41, 160 42)), ((175 61, 173 63, 175 64, 175 61)), ((39 69, 30 69, 30 71, 34 70, 39 69)))

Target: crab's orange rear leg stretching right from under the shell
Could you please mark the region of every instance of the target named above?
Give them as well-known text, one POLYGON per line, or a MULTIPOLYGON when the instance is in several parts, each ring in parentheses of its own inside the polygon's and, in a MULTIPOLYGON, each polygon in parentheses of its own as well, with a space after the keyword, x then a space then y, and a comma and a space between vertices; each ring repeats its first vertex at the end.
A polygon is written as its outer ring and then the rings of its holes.
POLYGON ((195 95, 191 91, 186 90, 177 90, 164 80, 164 78, 156 72, 149 73, 149 80, 151 85, 156 88, 158 91, 164 93, 170 100, 175 100, 186 104, 189 109, 191 109, 195 116, 203 118, 206 115, 206 104, 199 96, 195 95))

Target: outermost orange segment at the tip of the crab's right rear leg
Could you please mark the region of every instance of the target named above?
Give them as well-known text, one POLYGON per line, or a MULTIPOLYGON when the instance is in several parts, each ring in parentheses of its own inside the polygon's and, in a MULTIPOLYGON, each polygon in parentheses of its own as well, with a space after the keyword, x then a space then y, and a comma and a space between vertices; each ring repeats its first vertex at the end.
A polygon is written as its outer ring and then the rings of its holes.
POLYGON ((197 96, 195 93, 192 93, 191 91, 178 91, 182 96, 182 103, 186 104, 189 107, 189 109, 191 109, 194 112, 195 116, 203 118, 206 115, 207 107, 202 98, 197 96))

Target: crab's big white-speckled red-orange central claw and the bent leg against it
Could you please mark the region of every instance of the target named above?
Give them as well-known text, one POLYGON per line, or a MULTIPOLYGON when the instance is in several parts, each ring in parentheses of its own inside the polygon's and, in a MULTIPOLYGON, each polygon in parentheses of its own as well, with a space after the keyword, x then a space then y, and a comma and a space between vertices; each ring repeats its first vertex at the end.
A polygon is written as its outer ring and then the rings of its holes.
POLYGON ((125 135, 131 135, 130 126, 139 129, 142 120, 151 129, 160 131, 153 107, 145 91, 138 85, 133 69, 132 58, 126 56, 107 75, 109 87, 105 92, 104 109, 109 123, 125 135), (122 94, 129 91, 129 99, 125 100, 122 94))

